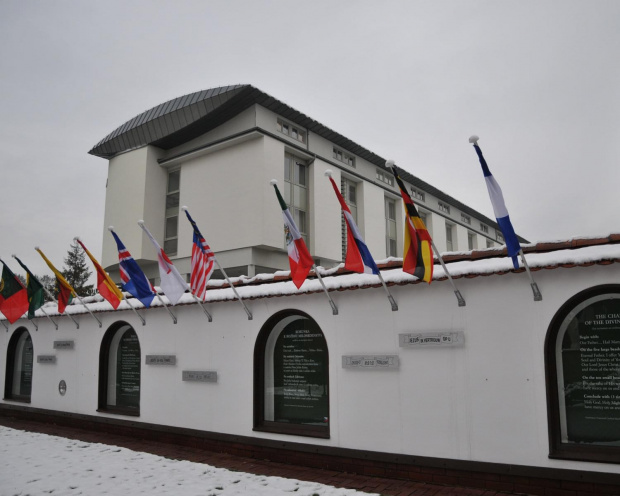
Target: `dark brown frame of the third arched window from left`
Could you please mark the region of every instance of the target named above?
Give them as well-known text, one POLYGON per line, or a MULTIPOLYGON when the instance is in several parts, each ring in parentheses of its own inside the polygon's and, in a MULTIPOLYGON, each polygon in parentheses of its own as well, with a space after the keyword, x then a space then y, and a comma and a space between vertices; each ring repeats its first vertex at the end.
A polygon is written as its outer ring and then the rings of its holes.
MULTIPOLYGON (((286 423, 286 422, 277 422, 272 420, 265 420, 265 354, 268 342, 270 341, 270 336, 276 326, 284 319, 292 316, 300 316, 312 321, 317 329, 321 331, 323 337, 325 338, 326 344, 326 380, 328 386, 327 393, 327 411, 328 417, 329 412, 331 411, 330 404, 330 367, 329 367, 329 347, 327 346, 327 338, 325 337, 325 333, 320 328, 318 323, 307 313, 302 312, 301 310, 282 310, 280 312, 275 313, 271 317, 267 319, 267 321, 261 327, 261 330, 256 337, 256 342, 254 344, 254 431, 260 432, 271 432, 277 434, 289 434, 293 436, 304 436, 304 437, 315 437, 321 439, 329 439, 330 438, 330 423, 328 422, 325 426, 317 426, 317 425, 305 425, 305 424, 294 424, 294 423, 286 423)), ((277 339, 277 338, 276 338, 277 339)))

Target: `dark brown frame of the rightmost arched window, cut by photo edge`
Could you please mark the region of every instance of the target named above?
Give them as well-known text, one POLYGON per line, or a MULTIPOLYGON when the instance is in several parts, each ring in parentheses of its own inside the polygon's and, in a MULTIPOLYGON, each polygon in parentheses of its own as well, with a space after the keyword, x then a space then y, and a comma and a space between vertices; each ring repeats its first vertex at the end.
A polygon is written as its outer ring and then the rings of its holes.
MULTIPOLYGON (((593 286, 569 298, 555 313, 545 336, 545 386, 547 393, 547 430, 549 436, 549 458, 578 460, 600 463, 620 463, 620 446, 602 446, 562 441, 562 415, 558 394, 557 342, 564 322, 574 314, 578 307, 588 300, 603 295, 620 297, 620 284, 593 286)), ((585 307, 584 307, 585 308, 585 307)), ((581 311, 580 309, 578 311, 581 311)), ((574 316, 574 315, 573 315, 574 316)), ((564 334, 562 335, 562 338, 564 334)), ((562 378, 562 381, 564 379, 562 378)))

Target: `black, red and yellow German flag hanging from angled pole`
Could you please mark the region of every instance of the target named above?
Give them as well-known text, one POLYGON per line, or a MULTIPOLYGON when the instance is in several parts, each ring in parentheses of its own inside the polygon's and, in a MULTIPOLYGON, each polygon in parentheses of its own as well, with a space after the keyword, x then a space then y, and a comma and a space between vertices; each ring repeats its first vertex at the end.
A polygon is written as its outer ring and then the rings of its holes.
POLYGON ((420 218, 420 214, 418 214, 418 210, 415 208, 415 204, 395 166, 392 166, 392 171, 405 206, 403 271, 430 284, 433 279, 434 266, 431 235, 428 233, 424 221, 420 218))

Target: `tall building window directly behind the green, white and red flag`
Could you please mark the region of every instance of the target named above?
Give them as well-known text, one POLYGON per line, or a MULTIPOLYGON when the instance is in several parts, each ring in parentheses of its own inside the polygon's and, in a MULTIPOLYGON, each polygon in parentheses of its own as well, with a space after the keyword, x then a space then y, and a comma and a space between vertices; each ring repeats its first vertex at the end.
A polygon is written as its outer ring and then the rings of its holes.
POLYGON ((308 166, 305 160, 291 153, 285 153, 284 191, 282 194, 306 244, 308 244, 308 229, 310 227, 308 178, 308 166))

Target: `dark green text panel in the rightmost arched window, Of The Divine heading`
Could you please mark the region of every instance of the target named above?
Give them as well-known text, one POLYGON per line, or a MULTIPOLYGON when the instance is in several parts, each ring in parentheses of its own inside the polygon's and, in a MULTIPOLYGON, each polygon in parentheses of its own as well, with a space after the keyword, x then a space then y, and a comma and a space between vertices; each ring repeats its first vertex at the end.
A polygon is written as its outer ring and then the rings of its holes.
POLYGON ((564 322, 562 374, 569 442, 620 444, 620 299, 593 298, 564 322))

